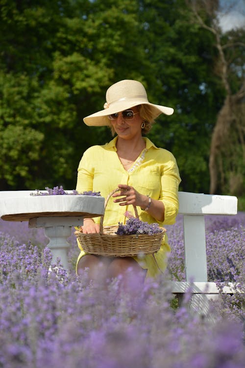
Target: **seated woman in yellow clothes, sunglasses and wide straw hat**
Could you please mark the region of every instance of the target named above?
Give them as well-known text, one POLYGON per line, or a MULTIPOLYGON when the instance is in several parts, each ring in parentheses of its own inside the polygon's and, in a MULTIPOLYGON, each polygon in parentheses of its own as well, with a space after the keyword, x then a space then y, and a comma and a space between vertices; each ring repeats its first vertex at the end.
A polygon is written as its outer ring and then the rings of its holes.
MULTIPOLYGON (((113 135, 117 134, 105 145, 90 147, 78 166, 77 191, 100 191, 107 197, 113 189, 120 188, 108 202, 104 226, 125 223, 125 212, 133 212, 131 205, 137 206, 142 221, 158 222, 160 226, 175 222, 180 183, 175 158, 142 136, 161 113, 171 115, 173 109, 150 104, 139 81, 121 80, 108 88, 104 110, 83 119, 88 126, 107 125, 113 135)), ((99 220, 99 217, 84 219, 83 233, 98 233, 99 220)), ((155 277, 166 268, 170 252, 166 235, 154 257, 98 257, 85 254, 80 244, 78 246, 81 253, 77 274, 88 268, 90 277, 99 279, 102 275, 126 278, 128 268, 143 277, 155 277)))

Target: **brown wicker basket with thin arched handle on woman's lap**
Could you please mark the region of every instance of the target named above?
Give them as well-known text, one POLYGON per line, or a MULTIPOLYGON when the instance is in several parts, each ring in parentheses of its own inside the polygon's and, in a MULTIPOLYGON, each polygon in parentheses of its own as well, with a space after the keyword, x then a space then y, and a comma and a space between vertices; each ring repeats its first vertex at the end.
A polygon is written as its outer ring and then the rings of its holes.
MULTIPOLYGON (((120 189, 114 189, 105 200, 105 208, 109 198, 120 189)), ((134 206, 135 216, 139 218, 138 211, 134 206)), ((103 218, 100 218, 99 233, 83 234, 76 231, 75 235, 79 240, 85 253, 95 254, 105 257, 134 257, 139 254, 152 254, 159 250, 162 238, 166 229, 162 233, 154 235, 116 235, 118 226, 106 226, 103 228, 103 218)))

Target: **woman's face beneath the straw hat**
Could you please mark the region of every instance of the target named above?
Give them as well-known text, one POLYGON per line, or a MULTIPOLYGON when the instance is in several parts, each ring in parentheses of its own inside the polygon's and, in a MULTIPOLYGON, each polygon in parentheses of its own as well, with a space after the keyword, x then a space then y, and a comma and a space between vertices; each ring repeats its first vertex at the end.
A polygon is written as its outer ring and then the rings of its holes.
POLYGON ((130 107, 126 111, 128 110, 131 110, 134 113, 132 120, 127 120, 127 118, 124 118, 122 111, 118 113, 117 119, 111 120, 114 130, 118 136, 123 139, 131 139, 137 135, 142 135, 141 124, 143 120, 140 116, 139 107, 130 107))

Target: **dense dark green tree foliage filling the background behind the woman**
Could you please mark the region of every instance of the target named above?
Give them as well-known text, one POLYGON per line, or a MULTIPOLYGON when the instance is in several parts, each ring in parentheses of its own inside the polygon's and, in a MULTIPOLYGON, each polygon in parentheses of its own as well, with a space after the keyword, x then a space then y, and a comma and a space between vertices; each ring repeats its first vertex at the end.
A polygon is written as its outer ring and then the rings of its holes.
MULTIPOLYGON (((215 35, 188 5, 0 0, 0 189, 74 188, 82 153, 111 138, 106 127, 87 127, 83 117, 103 108, 109 85, 138 79, 150 102, 175 109, 171 117, 157 119, 149 137, 176 157, 183 190, 208 192, 211 136, 227 91, 217 73, 215 35)), ((217 6, 218 1, 198 8, 208 27, 217 19, 217 6)), ((241 86, 242 70, 244 78, 244 49, 235 45, 243 35, 222 35, 222 42, 233 43, 225 50, 232 94, 241 86)), ((240 107, 236 111, 243 122, 240 107)), ((234 162, 223 164, 218 191, 232 191, 227 173, 234 162)))

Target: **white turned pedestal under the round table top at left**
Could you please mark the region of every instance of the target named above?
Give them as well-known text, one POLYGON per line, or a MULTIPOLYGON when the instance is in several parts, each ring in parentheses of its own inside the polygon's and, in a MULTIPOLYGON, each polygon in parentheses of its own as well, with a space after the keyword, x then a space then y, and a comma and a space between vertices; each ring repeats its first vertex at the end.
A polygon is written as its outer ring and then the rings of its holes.
POLYGON ((64 268, 68 269, 67 251, 70 244, 67 238, 72 235, 73 226, 82 226, 83 217, 35 217, 29 220, 29 228, 44 228, 49 238, 48 247, 51 250, 53 263, 60 258, 64 268))

